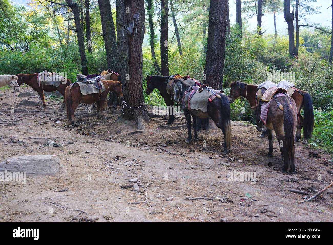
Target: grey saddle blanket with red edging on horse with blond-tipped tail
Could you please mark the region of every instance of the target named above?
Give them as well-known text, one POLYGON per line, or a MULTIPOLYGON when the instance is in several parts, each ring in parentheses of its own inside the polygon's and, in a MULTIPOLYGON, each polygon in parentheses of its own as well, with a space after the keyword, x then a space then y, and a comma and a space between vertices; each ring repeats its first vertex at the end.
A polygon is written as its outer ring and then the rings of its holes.
MULTIPOLYGON (((193 86, 197 86, 197 85, 196 84, 192 85, 190 88, 192 88, 193 86)), ((197 86, 197 87, 199 87, 199 86, 197 86)), ((212 90, 215 93, 222 92, 221 90, 215 90, 215 89, 212 89, 212 90)), ((211 102, 214 98, 215 98, 215 95, 212 92, 208 91, 207 89, 202 89, 201 91, 197 90, 197 89, 194 89, 194 90, 190 89, 186 93, 186 95, 184 97, 184 101, 185 101, 185 106, 188 107, 188 104, 189 104, 190 109, 207 112, 208 101, 211 102), (189 100, 189 103, 188 103, 188 100, 189 100)))

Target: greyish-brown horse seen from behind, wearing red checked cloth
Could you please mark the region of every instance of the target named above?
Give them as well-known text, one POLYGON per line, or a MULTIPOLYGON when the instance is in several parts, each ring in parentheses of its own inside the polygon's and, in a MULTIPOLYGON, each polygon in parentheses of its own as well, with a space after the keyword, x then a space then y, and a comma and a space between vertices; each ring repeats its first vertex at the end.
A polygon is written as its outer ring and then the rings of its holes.
MULTIPOLYGON (((297 122, 297 107, 294 99, 289 96, 276 97, 283 106, 283 111, 278 107, 274 98, 271 99, 267 112, 267 127, 269 151, 268 156, 273 155, 273 130, 279 142, 281 155, 283 156, 282 172, 295 173, 295 132, 297 122)), ((261 105, 251 106, 255 109, 257 129, 262 127, 260 118, 261 105)))

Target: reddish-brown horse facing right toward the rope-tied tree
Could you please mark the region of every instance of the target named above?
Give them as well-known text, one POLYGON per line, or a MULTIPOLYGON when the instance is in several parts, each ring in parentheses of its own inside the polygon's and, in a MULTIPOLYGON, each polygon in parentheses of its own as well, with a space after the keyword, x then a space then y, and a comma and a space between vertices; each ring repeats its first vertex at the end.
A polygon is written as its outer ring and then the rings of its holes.
POLYGON ((85 104, 97 105, 97 118, 102 118, 105 110, 105 100, 109 92, 114 91, 115 94, 123 99, 122 83, 118 81, 101 80, 104 85, 104 91, 102 93, 92 93, 82 95, 80 85, 74 83, 72 87, 68 86, 65 91, 66 111, 68 124, 75 124, 74 112, 80 102, 85 104))

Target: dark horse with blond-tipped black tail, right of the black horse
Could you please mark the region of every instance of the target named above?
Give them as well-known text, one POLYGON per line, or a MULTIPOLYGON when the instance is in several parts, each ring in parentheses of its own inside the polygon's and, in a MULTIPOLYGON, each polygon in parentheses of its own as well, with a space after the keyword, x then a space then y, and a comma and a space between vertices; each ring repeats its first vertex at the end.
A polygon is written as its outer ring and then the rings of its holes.
POLYGON ((207 111, 201 111, 197 109, 190 109, 186 107, 186 99, 189 99, 189 91, 190 87, 192 86, 192 82, 190 81, 180 81, 176 80, 173 86, 174 92, 174 100, 177 104, 181 104, 181 108, 184 110, 184 115, 187 121, 187 140, 186 142, 190 142, 192 139, 191 133, 191 117, 193 117, 193 128, 194 128, 194 140, 198 140, 197 135, 197 118, 211 118, 216 126, 221 129, 224 139, 223 139, 223 151, 224 153, 229 153, 231 148, 231 129, 230 129, 230 104, 229 99, 224 94, 218 94, 218 98, 214 98, 212 100, 208 100, 207 102, 207 111), (186 99, 185 99, 185 96, 186 99))

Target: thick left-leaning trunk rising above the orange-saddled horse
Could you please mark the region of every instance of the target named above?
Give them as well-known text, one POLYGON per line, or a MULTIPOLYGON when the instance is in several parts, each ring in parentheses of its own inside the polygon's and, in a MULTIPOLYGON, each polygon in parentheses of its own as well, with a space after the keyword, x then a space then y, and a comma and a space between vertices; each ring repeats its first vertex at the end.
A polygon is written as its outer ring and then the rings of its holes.
POLYGON ((98 0, 108 69, 118 71, 117 41, 109 0, 98 0))

